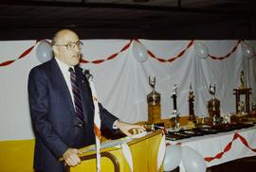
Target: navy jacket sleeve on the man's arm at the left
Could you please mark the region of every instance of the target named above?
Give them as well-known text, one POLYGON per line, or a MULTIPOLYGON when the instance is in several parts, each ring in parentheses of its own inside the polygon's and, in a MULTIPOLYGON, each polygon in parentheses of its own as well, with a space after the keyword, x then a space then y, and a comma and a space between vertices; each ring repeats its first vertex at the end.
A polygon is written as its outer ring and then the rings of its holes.
POLYGON ((32 120, 32 126, 36 137, 45 144, 45 146, 60 158, 68 148, 62 138, 54 130, 51 122, 48 120, 49 100, 47 91, 46 74, 33 68, 28 77, 28 100, 32 120))

